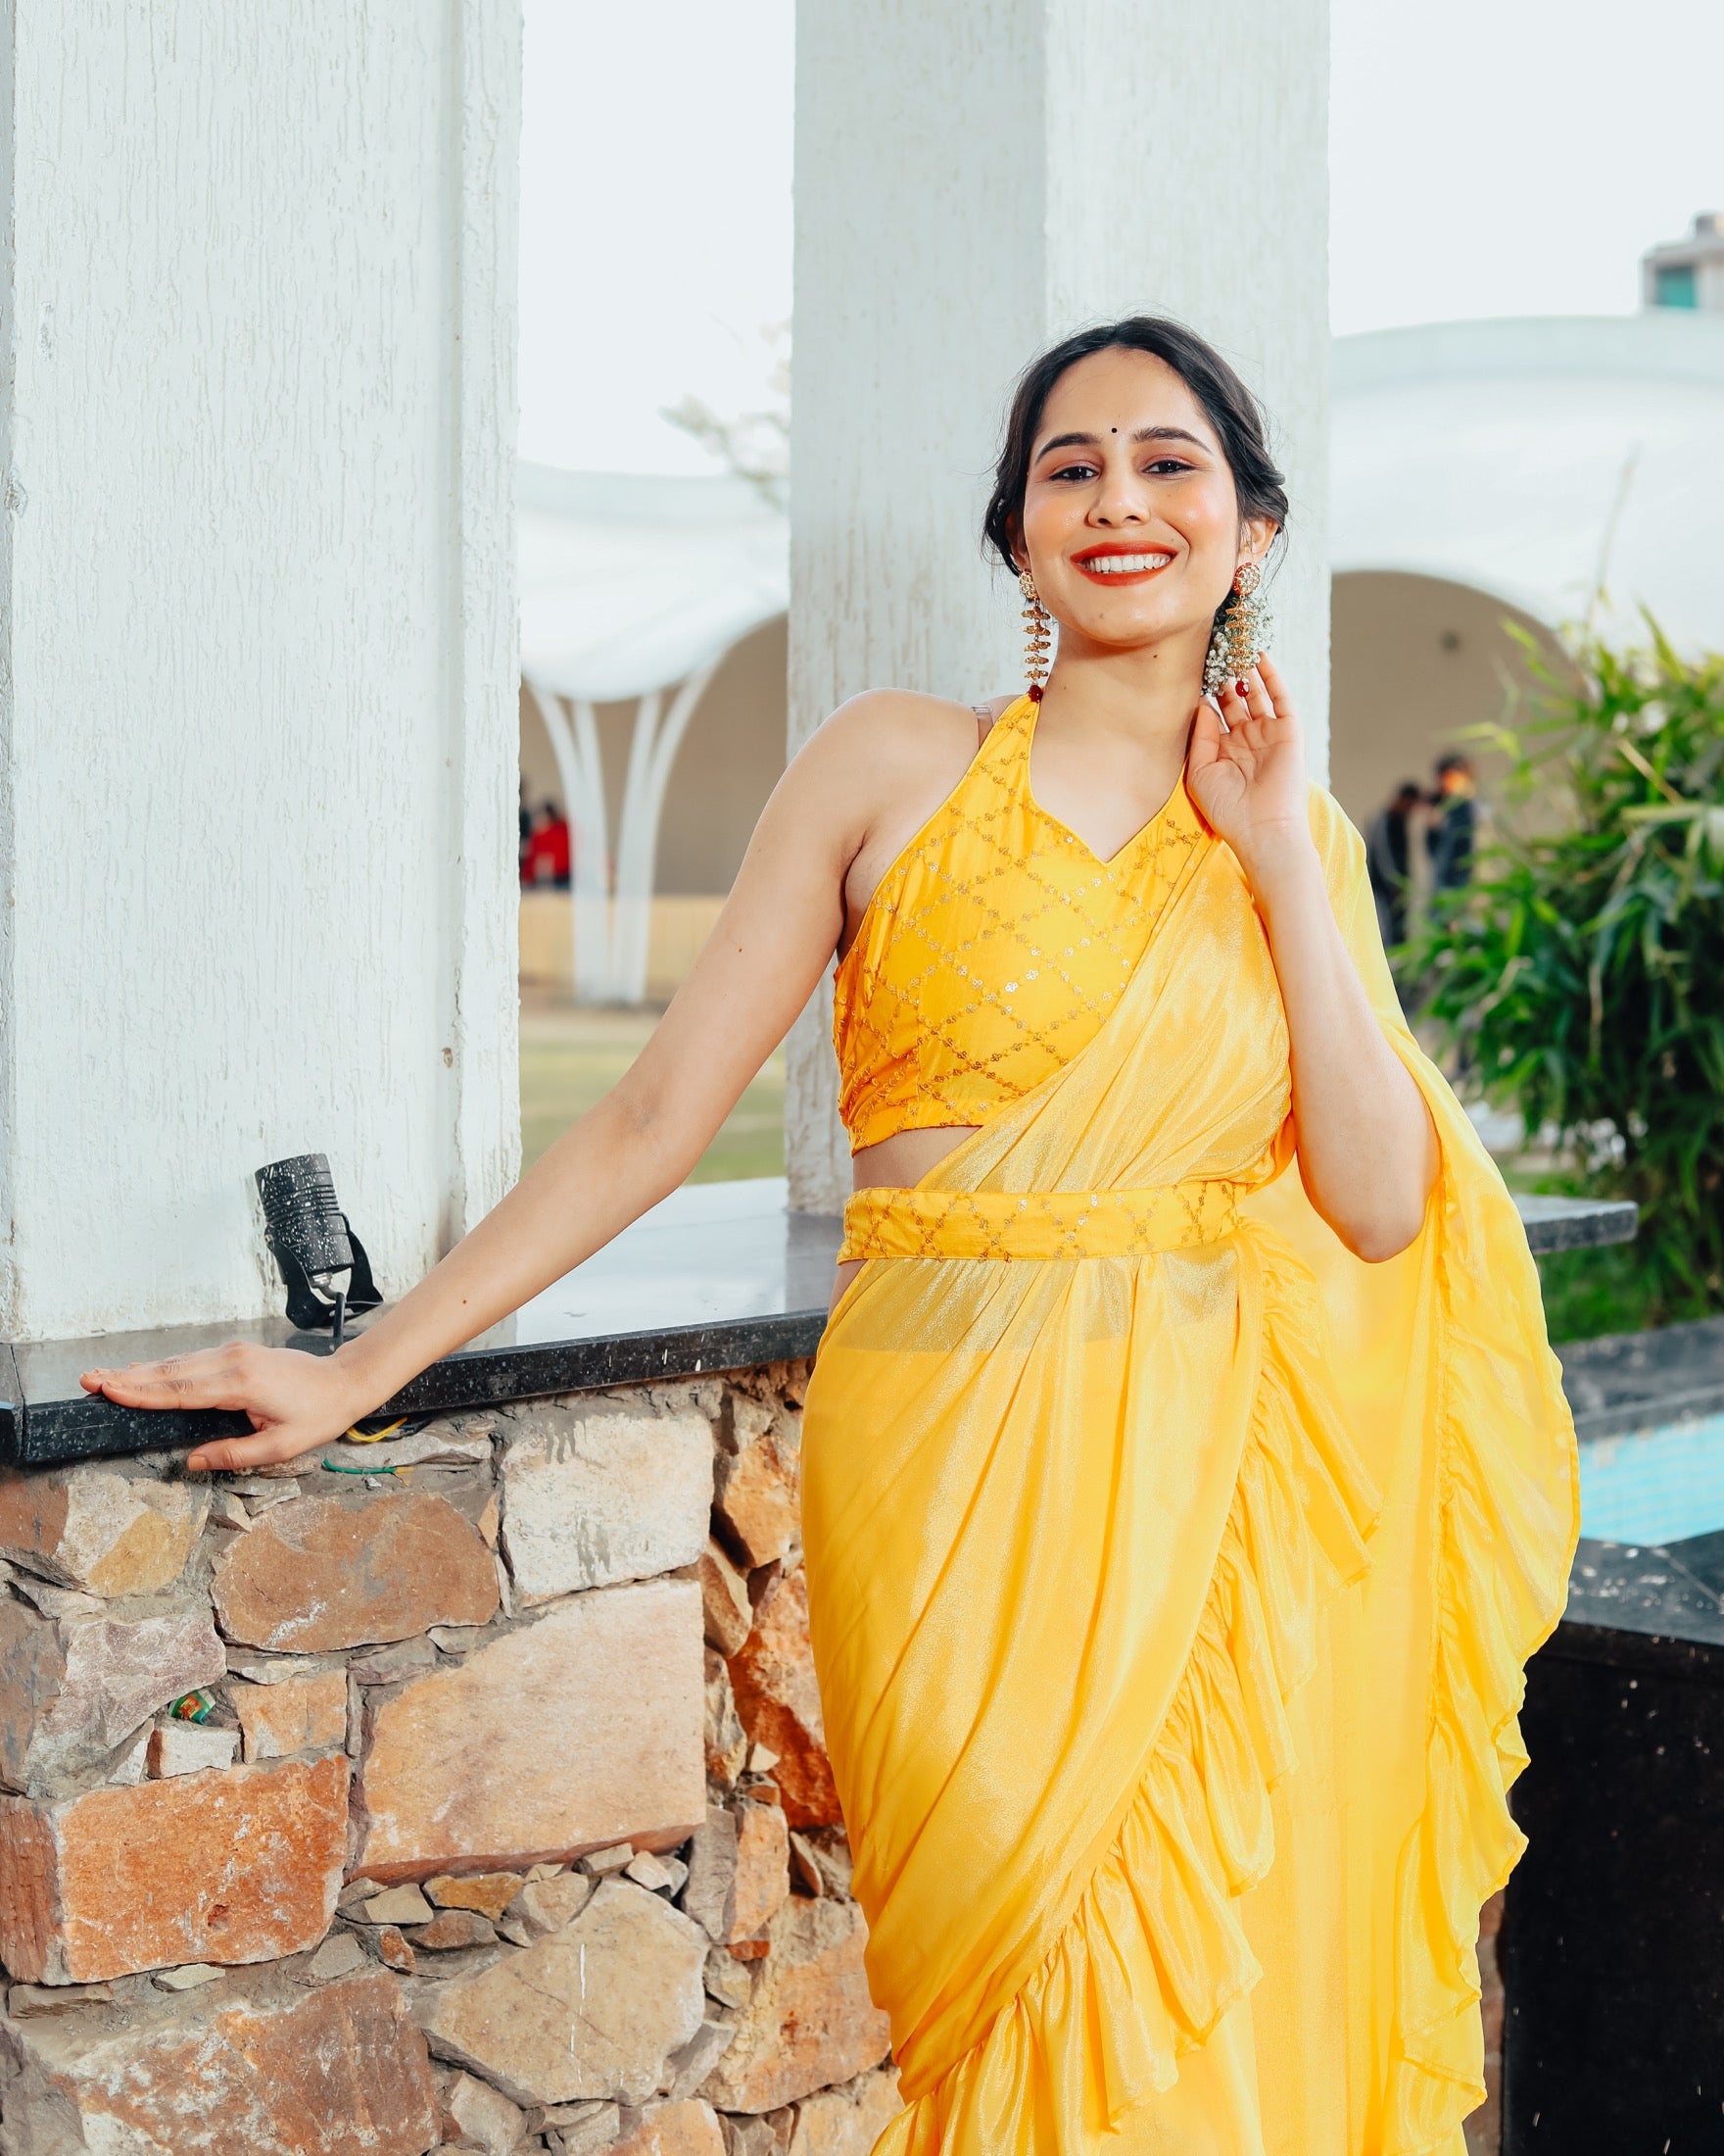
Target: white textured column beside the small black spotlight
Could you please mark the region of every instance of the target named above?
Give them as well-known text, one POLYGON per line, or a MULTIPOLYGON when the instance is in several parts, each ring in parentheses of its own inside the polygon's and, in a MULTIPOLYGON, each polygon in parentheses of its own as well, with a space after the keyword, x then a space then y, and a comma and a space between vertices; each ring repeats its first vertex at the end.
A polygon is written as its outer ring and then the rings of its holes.
POLYGON ((390 1289, 515 1091, 511 0, 13 0, 0 1330, 390 1289))

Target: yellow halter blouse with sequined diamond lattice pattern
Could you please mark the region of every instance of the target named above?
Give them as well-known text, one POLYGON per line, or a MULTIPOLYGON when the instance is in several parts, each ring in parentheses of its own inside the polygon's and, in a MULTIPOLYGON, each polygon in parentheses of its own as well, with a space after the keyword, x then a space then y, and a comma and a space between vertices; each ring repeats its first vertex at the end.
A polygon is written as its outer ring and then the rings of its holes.
POLYGON ((1000 714, 884 875, 838 966, 851 1147, 985 1123, 1095 1039, 1202 841, 1181 787, 1112 860, 1030 791, 1037 705, 1000 714))

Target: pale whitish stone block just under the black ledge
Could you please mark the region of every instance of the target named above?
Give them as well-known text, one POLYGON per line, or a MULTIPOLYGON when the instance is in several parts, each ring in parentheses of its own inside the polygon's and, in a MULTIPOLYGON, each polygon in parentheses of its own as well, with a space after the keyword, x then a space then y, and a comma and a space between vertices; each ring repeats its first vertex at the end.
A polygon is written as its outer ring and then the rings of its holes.
POLYGON ((707 1544, 713 1434, 700 1414, 552 1401, 511 1416, 502 1548, 524 1606, 692 1565, 707 1544))

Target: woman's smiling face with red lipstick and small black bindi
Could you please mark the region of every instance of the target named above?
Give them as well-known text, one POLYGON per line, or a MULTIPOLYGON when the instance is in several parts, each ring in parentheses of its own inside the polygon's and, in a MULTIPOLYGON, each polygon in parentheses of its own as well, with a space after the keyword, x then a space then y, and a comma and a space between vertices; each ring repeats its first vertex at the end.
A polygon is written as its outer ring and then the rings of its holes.
POLYGON ((1065 636, 1125 651, 1209 645, 1241 561, 1276 528, 1241 530, 1222 444, 1166 360, 1110 347, 1054 384, 1030 451, 1019 556, 1065 636))

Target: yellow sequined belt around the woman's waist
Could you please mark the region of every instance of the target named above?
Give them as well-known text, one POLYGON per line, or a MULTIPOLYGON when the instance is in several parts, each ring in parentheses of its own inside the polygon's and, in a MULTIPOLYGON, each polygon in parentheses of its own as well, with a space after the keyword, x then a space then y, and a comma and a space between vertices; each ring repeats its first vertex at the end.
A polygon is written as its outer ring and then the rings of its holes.
POLYGON ((845 1205, 853 1257, 1151 1257, 1239 1227, 1241 1184, 1155 1190, 858 1190, 845 1205))

